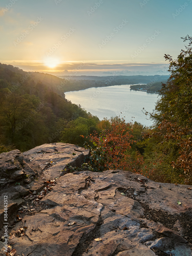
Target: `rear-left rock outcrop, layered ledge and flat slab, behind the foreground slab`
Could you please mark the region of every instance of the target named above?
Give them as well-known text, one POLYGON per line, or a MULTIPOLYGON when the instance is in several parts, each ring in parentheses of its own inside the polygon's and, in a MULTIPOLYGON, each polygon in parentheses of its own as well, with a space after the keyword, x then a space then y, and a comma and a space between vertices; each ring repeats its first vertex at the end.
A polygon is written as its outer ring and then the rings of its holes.
POLYGON ((44 144, 23 154, 19 150, 0 154, 0 235, 3 234, 4 196, 8 197, 7 214, 11 225, 18 209, 25 204, 23 197, 29 192, 35 196, 46 186, 45 180, 69 172, 64 170, 67 164, 80 166, 89 154, 89 150, 65 143, 44 144))

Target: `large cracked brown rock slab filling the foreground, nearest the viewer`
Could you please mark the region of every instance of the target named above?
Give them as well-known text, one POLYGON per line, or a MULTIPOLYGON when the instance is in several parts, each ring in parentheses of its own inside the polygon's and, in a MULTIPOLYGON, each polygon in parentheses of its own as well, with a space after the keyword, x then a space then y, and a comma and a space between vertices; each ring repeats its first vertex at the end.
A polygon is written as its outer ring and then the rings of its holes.
POLYGON ((41 199, 47 209, 10 229, 11 242, 20 256, 191 256, 191 199, 188 186, 122 170, 69 173, 41 199))

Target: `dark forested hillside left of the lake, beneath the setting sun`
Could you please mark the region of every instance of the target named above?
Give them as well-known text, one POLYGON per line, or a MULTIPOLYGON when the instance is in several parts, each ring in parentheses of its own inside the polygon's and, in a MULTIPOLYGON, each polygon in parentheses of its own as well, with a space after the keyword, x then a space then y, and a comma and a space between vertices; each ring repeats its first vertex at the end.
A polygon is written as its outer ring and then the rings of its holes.
MULTIPOLYGON (((0 64, 1 152, 57 142, 66 124, 79 117, 99 122, 65 99, 64 80, 0 64)), ((67 83, 66 83, 67 84, 67 83)), ((89 131, 89 129, 88 129, 89 131)))

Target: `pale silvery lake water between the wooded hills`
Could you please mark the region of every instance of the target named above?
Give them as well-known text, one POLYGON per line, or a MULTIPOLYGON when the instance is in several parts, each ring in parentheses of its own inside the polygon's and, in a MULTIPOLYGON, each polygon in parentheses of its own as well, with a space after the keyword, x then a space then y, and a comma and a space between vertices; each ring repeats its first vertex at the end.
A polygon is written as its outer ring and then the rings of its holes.
POLYGON ((97 115, 100 120, 120 115, 121 118, 125 116, 126 122, 133 120, 146 126, 152 125, 153 122, 146 119, 142 110, 145 108, 146 111, 152 112, 158 97, 156 93, 130 90, 130 85, 89 88, 65 92, 65 95, 66 99, 80 104, 87 112, 97 115))

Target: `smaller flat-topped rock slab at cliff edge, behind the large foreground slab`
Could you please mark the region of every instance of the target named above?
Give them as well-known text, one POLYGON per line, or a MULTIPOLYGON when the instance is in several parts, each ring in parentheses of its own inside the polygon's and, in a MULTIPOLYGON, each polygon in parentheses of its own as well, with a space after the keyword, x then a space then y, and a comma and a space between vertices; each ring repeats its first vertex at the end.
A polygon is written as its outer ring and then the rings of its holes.
POLYGON ((67 164, 79 167, 86 162, 90 151, 73 144, 50 143, 23 152, 23 155, 28 156, 31 161, 35 160, 42 169, 46 167, 46 163, 52 162, 52 166, 44 170, 44 175, 48 179, 53 179, 69 172, 65 171, 67 164))

